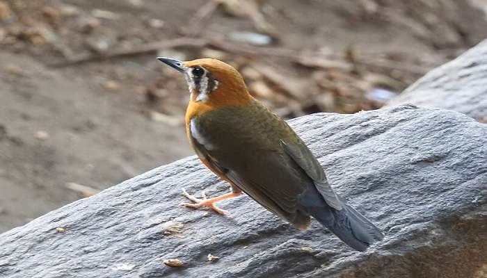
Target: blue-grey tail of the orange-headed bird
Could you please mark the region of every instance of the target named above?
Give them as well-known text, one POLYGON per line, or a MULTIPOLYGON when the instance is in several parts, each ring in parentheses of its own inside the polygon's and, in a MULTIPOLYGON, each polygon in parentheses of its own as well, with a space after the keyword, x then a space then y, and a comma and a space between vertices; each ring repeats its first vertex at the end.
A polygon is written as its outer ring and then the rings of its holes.
POLYGON ((305 211, 353 249, 365 251, 369 245, 384 237, 378 227, 342 199, 343 208, 337 211, 328 206, 317 191, 314 194, 307 191, 301 196, 301 205, 305 211))

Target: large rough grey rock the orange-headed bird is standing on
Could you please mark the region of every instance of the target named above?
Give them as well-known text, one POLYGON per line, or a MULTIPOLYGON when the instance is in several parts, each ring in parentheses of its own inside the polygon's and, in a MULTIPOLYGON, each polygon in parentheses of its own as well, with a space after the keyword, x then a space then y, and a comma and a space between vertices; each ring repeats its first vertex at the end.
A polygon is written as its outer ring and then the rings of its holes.
POLYGON ((228 190, 189 157, 1 234, 0 277, 485 275, 486 124, 399 106, 292 125, 337 193, 385 231, 381 243, 354 252, 317 222, 297 231, 247 196, 221 204, 232 218, 177 206, 181 188, 228 190))

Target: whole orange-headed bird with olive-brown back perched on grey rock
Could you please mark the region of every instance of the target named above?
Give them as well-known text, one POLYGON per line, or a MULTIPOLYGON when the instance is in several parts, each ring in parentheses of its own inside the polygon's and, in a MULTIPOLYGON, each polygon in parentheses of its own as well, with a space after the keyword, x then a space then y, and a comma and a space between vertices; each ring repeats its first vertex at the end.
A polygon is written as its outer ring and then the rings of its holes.
POLYGON ((307 229, 314 218, 355 250, 383 239, 381 229, 335 193, 292 127, 250 95, 234 67, 214 58, 157 59, 184 75, 191 94, 188 140, 200 161, 231 186, 230 193, 211 198, 183 189, 191 203, 182 205, 227 214, 216 202, 244 192, 296 229, 307 229))

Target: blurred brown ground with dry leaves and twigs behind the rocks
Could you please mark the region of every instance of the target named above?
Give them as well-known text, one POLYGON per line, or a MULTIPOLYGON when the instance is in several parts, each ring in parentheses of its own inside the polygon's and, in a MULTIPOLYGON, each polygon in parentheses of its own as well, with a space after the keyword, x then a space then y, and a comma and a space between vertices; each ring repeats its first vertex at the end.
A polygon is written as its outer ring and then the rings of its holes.
POLYGON ((0 0, 0 232, 193 154, 186 83, 157 56, 225 60, 283 117, 355 113, 486 38, 486 13, 486 0, 0 0))

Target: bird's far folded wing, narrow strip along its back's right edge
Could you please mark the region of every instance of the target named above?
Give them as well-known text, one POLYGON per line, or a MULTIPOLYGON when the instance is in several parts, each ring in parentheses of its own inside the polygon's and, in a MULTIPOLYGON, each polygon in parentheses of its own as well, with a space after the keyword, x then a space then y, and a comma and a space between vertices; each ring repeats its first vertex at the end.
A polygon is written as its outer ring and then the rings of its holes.
POLYGON ((287 143, 280 140, 280 144, 282 148, 285 149, 285 152, 291 156, 299 167, 308 174, 308 177, 314 181, 314 186, 316 186, 318 192, 323 196, 326 204, 340 211, 343 208, 342 202, 337 197, 330 184, 328 184, 325 172, 317 158, 314 157, 304 142, 299 140, 296 143, 287 143))

